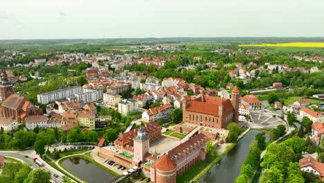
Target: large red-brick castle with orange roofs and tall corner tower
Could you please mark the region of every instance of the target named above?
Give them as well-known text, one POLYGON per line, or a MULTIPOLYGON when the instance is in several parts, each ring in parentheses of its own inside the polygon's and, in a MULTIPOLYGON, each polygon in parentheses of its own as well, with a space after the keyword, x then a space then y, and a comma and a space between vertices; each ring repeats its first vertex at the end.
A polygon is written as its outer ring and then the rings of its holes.
POLYGON ((240 91, 235 86, 232 100, 215 96, 204 96, 183 101, 183 122, 210 128, 226 128, 231 122, 238 122, 240 91))

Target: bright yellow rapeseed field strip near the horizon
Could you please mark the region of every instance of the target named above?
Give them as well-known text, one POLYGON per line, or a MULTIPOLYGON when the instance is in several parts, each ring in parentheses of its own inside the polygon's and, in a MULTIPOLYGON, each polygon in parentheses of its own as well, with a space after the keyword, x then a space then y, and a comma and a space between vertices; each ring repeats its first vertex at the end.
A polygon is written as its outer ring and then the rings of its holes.
POLYGON ((324 47, 324 42, 289 42, 278 44, 239 44, 238 46, 324 47))

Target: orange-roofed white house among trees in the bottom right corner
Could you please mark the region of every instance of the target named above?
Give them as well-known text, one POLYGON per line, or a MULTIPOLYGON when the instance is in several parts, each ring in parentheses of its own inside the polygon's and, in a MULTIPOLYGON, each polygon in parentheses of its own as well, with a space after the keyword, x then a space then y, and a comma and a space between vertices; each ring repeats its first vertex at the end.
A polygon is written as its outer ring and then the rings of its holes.
POLYGON ((313 173, 317 175, 321 181, 324 181, 324 164, 317 162, 313 157, 307 156, 303 159, 299 159, 299 167, 301 171, 313 173))

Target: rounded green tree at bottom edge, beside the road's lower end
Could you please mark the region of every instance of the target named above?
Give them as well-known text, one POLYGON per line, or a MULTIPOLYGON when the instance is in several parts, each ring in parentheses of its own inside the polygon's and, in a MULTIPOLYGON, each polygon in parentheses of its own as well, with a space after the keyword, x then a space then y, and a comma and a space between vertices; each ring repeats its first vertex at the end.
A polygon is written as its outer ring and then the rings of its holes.
POLYGON ((34 169, 24 183, 51 183, 51 173, 42 168, 34 169))

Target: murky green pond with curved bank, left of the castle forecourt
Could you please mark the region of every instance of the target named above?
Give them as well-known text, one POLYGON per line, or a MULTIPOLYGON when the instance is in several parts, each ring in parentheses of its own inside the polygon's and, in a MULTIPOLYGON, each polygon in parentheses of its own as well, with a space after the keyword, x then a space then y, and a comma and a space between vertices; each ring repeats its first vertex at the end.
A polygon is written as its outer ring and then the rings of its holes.
POLYGON ((107 183, 114 180, 113 175, 86 159, 74 157, 66 159, 62 164, 68 171, 89 183, 107 183))

